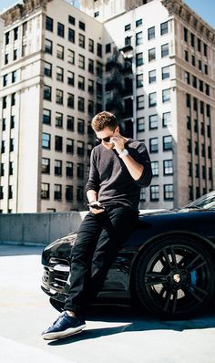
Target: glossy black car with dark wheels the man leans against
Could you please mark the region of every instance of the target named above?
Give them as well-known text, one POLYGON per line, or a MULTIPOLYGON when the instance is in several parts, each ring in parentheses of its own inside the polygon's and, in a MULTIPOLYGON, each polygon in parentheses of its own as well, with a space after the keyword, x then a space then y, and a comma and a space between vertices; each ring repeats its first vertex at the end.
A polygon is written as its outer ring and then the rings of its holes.
MULTIPOLYGON (((77 233, 57 239, 42 255, 42 289, 58 310, 68 291, 77 233)), ((132 303, 168 318, 184 318, 215 295, 215 192, 176 211, 140 213, 112 264, 96 302, 132 303)))

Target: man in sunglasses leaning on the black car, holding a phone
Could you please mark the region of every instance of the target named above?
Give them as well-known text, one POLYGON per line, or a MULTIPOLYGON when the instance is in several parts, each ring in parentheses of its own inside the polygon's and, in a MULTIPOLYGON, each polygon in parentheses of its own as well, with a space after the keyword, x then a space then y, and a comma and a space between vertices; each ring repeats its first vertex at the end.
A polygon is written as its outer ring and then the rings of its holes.
POLYGON ((147 187, 152 177, 145 144, 123 137, 112 113, 98 113, 92 128, 100 144, 91 153, 86 185, 89 213, 72 250, 64 313, 42 333, 45 339, 68 337, 86 327, 87 307, 103 285, 118 249, 136 227, 140 188, 147 187))

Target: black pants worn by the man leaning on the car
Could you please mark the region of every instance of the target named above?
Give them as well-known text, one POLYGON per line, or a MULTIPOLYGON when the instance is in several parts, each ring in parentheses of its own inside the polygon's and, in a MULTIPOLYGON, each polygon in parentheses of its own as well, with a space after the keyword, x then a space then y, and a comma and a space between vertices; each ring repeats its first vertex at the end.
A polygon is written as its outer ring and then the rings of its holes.
POLYGON ((138 213, 125 207, 87 213, 72 250, 69 295, 64 306, 84 315, 102 287, 118 249, 138 223, 138 213))

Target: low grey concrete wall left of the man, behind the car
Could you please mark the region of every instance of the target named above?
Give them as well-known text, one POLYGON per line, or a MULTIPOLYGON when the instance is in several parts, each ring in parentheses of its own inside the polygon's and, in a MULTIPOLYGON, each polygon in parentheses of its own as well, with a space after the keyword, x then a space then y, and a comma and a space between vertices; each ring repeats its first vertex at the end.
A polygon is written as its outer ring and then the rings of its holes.
POLYGON ((49 244, 77 231, 86 213, 0 214, 0 244, 49 244))

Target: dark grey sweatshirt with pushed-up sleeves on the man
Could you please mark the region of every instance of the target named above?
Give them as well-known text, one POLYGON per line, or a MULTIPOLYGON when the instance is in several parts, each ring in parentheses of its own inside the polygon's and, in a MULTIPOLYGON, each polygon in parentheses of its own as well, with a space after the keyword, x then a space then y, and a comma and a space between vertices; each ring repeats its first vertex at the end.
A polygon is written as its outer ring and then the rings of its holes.
POLYGON ((125 149, 135 161, 144 166, 138 181, 132 178, 116 150, 107 150, 99 144, 91 152, 86 192, 96 191, 97 200, 105 207, 117 203, 138 211, 140 189, 147 187, 152 178, 151 164, 143 142, 128 139, 125 149))

